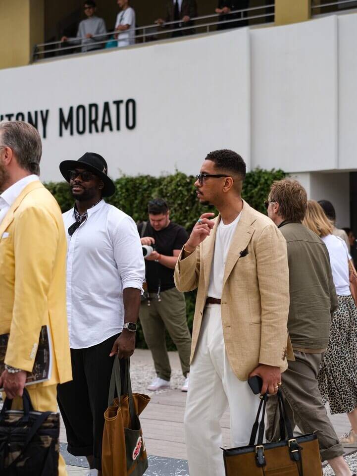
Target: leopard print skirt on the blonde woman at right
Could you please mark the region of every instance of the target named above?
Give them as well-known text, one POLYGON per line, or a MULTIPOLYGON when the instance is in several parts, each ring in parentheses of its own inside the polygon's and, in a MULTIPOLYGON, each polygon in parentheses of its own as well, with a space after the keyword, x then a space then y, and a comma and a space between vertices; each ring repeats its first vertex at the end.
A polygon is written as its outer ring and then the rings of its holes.
POLYGON ((352 296, 338 296, 318 385, 332 414, 357 408, 357 308, 352 296))

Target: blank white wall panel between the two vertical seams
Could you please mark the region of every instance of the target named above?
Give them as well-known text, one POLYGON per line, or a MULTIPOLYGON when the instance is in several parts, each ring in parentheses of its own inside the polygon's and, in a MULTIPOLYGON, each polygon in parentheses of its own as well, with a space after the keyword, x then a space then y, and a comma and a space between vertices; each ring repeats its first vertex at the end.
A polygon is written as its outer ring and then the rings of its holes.
POLYGON ((252 166, 337 166, 337 19, 251 32, 252 166))

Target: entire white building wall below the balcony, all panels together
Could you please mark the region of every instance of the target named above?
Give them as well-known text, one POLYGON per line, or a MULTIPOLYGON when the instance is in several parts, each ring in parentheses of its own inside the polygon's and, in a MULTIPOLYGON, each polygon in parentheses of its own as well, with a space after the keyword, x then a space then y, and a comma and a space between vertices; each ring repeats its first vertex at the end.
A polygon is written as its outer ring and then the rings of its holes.
POLYGON ((45 180, 88 150, 114 177, 197 173, 218 148, 248 168, 357 170, 356 50, 353 13, 66 57, 0 71, 0 116, 50 109, 45 180), (135 129, 59 137, 59 107, 130 98, 135 129))

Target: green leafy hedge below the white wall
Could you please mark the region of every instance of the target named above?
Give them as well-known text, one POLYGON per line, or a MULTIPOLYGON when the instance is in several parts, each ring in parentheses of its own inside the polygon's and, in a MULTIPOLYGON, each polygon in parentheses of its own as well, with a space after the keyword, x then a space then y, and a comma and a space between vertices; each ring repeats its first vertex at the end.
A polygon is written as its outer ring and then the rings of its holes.
MULTIPOLYGON (((248 172, 243 187, 243 198, 259 212, 265 212, 264 200, 267 199, 270 185, 274 180, 285 177, 282 170, 262 170, 256 168, 248 172)), ((135 177, 122 176, 115 180, 116 193, 107 200, 134 218, 136 222, 147 219, 147 204, 153 198, 164 198, 170 207, 171 219, 184 226, 190 233, 198 217, 207 211, 214 211, 200 205, 195 193, 196 178, 176 172, 173 175, 153 177, 151 175, 137 175, 135 177)), ((62 212, 73 207, 73 199, 66 182, 47 183, 46 187, 54 195, 62 212)), ((196 292, 186 293, 187 319, 190 330, 195 310, 196 292)), ((146 348, 141 329, 137 333, 137 347, 146 348)), ((169 336, 167 347, 175 349, 169 336)))

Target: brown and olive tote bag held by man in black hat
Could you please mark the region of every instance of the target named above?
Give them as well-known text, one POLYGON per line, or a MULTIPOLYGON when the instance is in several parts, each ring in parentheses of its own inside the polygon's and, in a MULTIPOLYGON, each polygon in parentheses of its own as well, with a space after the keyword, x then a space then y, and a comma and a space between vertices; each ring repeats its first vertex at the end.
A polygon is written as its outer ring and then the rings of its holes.
POLYGON ((129 359, 126 359, 121 391, 120 363, 116 357, 111 374, 108 408, 104 413, 103 476, 142 476, 148 468, 139 415, 150 397, 132 393, 129 359), (114 398, 115 388, 119 398, 114 398))

